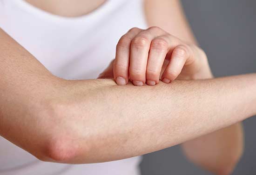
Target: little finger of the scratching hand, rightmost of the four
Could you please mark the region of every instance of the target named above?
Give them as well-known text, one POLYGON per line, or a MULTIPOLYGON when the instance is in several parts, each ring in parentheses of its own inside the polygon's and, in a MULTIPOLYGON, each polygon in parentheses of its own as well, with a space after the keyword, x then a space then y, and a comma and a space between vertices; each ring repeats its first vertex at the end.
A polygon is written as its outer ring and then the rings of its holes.
POLYGON ((191 50, 187 45, 178 45, 172 50, 170 62, 162 75, 162 81, 169 83, 180 75, 183 66, 192 57, 191 50))

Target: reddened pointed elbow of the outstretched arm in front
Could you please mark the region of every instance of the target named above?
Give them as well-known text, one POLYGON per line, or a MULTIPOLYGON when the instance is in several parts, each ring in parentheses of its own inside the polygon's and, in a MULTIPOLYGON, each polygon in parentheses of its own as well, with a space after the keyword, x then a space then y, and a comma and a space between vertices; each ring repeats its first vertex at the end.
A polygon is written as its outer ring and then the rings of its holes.
POLYGON ((87 163, 88 137, 81 130, 79 121, 72 114, 70 108, 56 103, 47 104, 40 118, 47 120, 40 139, 40 150, 34 156, 44 162, 58 163, 87 163), (68 110, 68 111, 69 111, 68 110), (83 161, 81 162, 81 157, 83 161))

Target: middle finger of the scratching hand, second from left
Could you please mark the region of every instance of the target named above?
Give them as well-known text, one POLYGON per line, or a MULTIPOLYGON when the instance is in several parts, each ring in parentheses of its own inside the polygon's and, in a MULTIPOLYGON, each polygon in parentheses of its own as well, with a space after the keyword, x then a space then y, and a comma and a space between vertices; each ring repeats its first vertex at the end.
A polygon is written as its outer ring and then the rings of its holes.
POLYGON ((148 63, 148 52, 151 41, 165 34, 165 31, 158 27, 150 27, 138 33, 131 42, 130 50, 130 80, 135 86, 142 86, 146 81, 146 69, 148 63))

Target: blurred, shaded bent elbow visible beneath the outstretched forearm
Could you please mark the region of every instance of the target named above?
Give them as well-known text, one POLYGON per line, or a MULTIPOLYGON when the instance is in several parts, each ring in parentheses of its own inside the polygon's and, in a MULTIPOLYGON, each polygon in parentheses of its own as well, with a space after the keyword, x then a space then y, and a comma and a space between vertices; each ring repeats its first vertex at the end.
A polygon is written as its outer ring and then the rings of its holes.
POLYGON ((243 154, 243 125, 239 122, 182 144, 186 156, 215 175, 230 175, 243 154))

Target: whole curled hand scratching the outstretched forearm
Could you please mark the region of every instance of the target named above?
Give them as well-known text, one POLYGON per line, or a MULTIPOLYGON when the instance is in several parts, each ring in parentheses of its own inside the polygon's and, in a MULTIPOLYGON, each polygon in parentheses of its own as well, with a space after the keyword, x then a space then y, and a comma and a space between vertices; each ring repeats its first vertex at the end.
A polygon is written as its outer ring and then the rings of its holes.
POLYGON ((169 83, 177 78, 212 78, 202 49, 186 44, 159 27, 132 28, 123 35, 116 46, 113 69, 118 85, 125 85, 128 80, 142 86, 155 85, 159 80, 169 83))

